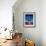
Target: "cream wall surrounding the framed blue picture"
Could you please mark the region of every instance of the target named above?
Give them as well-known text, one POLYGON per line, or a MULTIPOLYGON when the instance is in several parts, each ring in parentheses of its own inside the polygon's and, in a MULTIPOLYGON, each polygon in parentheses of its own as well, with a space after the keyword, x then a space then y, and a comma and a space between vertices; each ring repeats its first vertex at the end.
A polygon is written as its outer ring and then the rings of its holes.
POLYGON ((40 34, 40 15, 41 15, 41 1, 40 0, 23 0, 19 1, 13 6, 14 24, 18 32, 23 33, 23 37, 31 39, 35 42, 36 46, 41 46, 40 34), (20 1, 21 2, 21 1, 20 1), (23 12, 36 12, 36 27, 24 28, 23 27, 23 12))

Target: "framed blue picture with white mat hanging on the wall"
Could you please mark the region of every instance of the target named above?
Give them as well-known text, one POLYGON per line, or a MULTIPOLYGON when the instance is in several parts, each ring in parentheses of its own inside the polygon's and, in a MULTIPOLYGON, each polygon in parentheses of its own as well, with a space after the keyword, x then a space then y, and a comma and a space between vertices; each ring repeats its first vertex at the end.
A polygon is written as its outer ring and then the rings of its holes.
POLYGON ((24 12, 23 25, 24 27, 36 27, 36 13, 24 12))

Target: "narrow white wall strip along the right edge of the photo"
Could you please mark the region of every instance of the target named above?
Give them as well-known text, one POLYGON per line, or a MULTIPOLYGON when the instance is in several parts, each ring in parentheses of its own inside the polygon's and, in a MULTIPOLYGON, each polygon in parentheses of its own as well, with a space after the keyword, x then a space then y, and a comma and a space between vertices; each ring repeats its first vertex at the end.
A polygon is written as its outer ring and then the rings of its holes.
POLYGON ((41 40, 42 46, 46 46, 46 0, 41 2, 41 40))

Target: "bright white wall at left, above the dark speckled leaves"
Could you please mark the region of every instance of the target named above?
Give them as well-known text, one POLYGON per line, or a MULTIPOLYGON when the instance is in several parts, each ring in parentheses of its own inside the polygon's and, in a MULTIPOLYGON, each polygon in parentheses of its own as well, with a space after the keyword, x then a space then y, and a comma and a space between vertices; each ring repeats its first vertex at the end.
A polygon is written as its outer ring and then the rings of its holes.
POLYGON ((0 27, 12 28, 12 6, 16 0, 0 0, 0 27))

